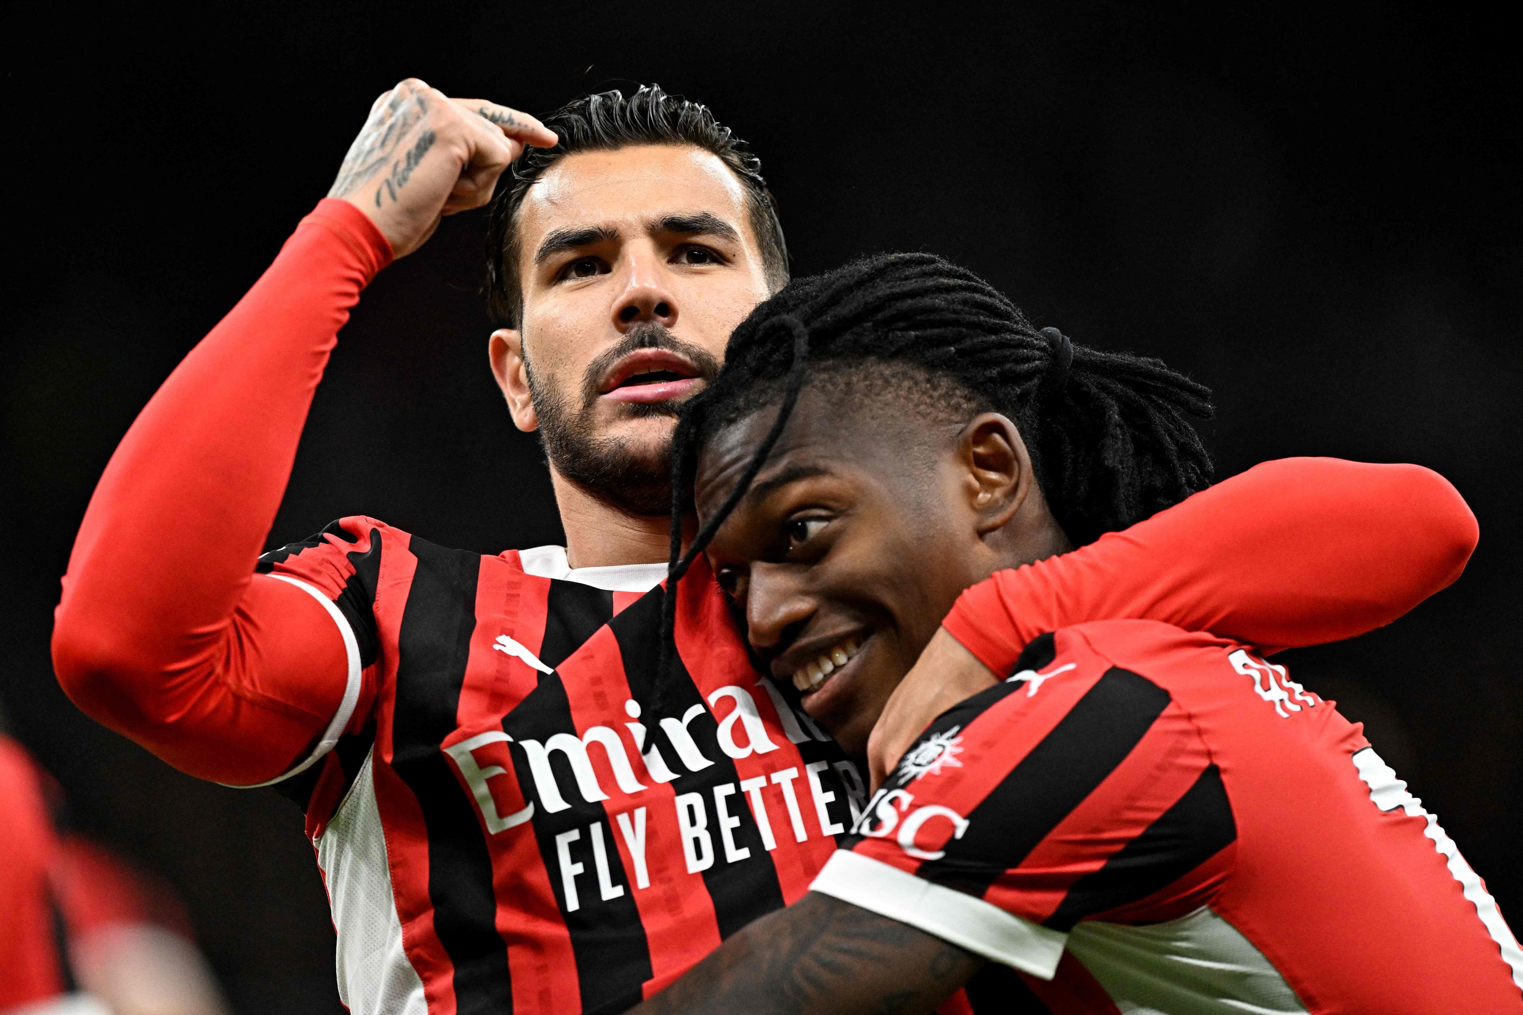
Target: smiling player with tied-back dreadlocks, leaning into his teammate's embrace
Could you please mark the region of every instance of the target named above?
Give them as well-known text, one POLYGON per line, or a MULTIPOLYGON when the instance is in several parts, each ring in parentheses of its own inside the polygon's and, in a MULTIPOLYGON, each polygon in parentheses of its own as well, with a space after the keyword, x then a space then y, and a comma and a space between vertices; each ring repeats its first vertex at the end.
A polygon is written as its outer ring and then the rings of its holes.
POLYGON ((1523 1012, 1482 881, 1282 667, 1156 621, 1016 659, 999 587, 1022 572, 959 598, 1188 490, 1199 396, 924 254, 803 280, 737 329, 678 432, 704 527, 673 571, 707 549, 848 749, 917 657, 956 705, 801 902, 640 1012, 1523 1012))

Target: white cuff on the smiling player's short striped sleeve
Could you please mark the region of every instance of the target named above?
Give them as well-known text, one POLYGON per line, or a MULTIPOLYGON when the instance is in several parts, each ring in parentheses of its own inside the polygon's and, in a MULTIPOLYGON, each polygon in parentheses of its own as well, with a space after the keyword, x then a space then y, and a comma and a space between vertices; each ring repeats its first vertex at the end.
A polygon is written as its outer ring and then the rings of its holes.
POLYGON ((1068 942, 1062 931, 850 849, 838 849, 809 890, 860 905, 1042 980, 1057 972, 1068 942))

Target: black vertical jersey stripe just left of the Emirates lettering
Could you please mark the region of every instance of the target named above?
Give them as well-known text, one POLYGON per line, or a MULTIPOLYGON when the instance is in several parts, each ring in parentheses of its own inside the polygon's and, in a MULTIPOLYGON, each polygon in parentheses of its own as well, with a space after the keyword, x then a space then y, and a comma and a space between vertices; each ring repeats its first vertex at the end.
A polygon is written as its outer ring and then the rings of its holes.
POLYGON ((420 539, 410 549, 417 565, 398 632, 391 767, 422 808, 434 936, 454 969, 455 1012, 510 1012, 492 861, 477 814, 440 749, 457 724, 481 557, 420 539))

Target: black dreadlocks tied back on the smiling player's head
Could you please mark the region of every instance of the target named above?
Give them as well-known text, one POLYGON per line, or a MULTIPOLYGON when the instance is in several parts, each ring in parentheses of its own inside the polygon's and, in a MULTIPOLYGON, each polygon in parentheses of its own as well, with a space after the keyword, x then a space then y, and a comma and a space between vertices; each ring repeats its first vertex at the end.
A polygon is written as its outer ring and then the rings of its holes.
POLYGON ((807 379, 885 365, 950 387, 973 414, 1014 420, 1048 507, 1075 546, 1211 484, 1211 457, 1186 420, 1211 415, 1211 391, 1157 359, 1037 330, 987 282, 932 254, 879 254, 798 278, 736 329, 723 370, 682 409, 672 446, 663 674, 675 657, 678 583, 766 464, 807 379), (699 449, 722 426, 771 405, 778 414, 766 438, 682 552, 699 449))

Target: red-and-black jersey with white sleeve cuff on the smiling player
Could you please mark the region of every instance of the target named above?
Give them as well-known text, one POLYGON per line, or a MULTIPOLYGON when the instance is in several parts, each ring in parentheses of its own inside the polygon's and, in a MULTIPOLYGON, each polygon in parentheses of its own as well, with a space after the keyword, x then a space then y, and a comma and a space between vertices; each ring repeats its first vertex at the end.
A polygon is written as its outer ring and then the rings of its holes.
POLYGON ((1485 884, 1284 667, 1151 621, 1016 667, 928 727, 813 884, 999 963, 975 1009, 1523 1012, 1485 884), (1060 963, 1089 1004, 1010 972, 1060 963))

